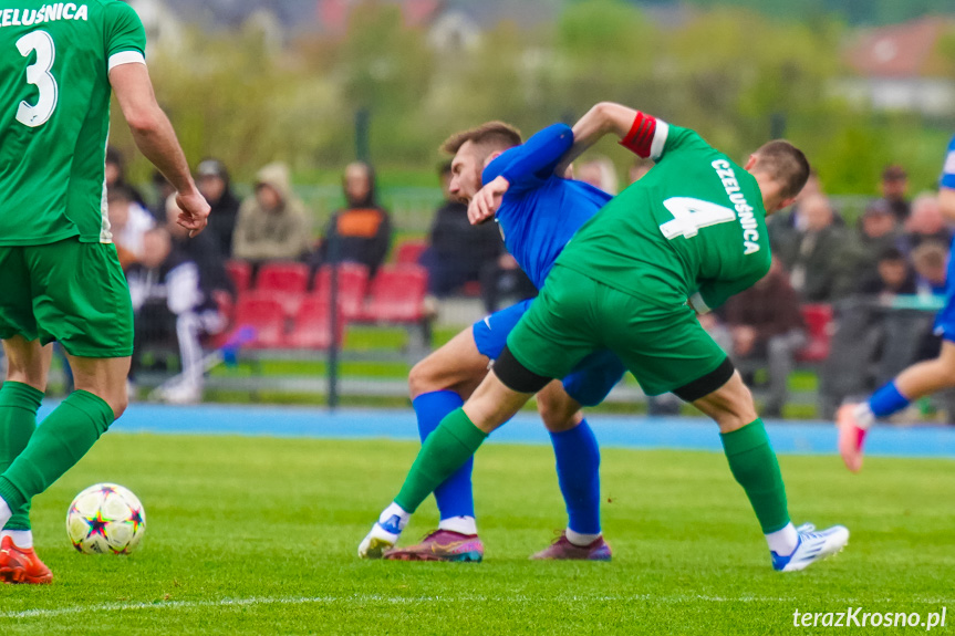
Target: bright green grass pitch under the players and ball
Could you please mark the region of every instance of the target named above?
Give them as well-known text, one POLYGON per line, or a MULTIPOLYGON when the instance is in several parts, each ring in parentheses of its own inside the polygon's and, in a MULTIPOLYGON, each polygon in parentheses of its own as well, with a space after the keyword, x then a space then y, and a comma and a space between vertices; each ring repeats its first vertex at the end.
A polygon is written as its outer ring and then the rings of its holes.
MULTIPOLYGON (((108 435, 34 502, 51 586, 0 586, 0 634, 824 634, 793 612, 947 606, 955 633, 955 462, 782 457, 799 523, 844 523, 849 548, 771 571, 718 453, 603 451, 611 563, 528 555, 564 522, 549 448, 490 445, 475 471, 481 564, 355 556, 417 448, 394 441, 108 435), (132 556, 70 546, 72 497, 97 481, 147 511, 132 556)), ((430 529, 427 502, 405 532, 430 529)), ((844 629, 843 629, 844 630, 844 629)), ((924 628, 850 628, 914 634, 924 628)))

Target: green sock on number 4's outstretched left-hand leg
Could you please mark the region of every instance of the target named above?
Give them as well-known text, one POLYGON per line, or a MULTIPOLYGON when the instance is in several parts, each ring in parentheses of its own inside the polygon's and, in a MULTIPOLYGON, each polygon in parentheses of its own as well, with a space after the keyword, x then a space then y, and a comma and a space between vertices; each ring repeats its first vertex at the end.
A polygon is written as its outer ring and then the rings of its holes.
POLYGON ((407 512, 417 510, 435 488, 477 451, 485 439, 487 434, 474 425, 464 409, 458 408, 448 414, 422 445, 395 503, 407 512))

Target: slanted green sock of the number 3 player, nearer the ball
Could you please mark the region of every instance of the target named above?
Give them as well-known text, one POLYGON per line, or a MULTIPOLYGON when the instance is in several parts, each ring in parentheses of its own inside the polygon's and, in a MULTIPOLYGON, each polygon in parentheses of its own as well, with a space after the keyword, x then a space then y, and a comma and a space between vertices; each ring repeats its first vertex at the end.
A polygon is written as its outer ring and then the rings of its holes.
POLYGON ((113 409, 85 390, 73 392, 37 428, 23 452, 0 475, 0 497, 18 510, 86 455, 113 424, 113 409))

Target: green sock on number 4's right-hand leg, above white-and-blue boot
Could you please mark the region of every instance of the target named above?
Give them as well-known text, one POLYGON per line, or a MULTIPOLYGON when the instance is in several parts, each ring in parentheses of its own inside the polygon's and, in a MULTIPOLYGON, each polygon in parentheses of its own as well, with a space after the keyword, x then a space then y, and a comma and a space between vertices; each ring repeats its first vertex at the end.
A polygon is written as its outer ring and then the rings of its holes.
POLYGON ((789 524, 786 487, 762 420, 757 419, 719 437, 729 470, 746 491, 762 533, 769 534, 786 528, 789 524))

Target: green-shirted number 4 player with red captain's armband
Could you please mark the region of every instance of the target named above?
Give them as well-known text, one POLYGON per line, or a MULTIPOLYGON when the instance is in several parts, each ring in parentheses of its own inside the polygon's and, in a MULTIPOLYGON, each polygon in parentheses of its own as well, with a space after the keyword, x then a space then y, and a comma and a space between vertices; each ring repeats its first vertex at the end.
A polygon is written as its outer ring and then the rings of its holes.
MULTIPOLYGON (((769 271, 765 217, 802 189, 806 157, 778 140, 738 166, 688 128, 602 103, 574 125, 574 144, 556 171, 609 133, 656 166, 571 239, 492 373, 425 441, 360 555, 377 557, 393 545, 411 513, 490 431, 601 348, 613 351, 648 395, 673 392, 716 420, 776 570, 802 570, 849 541, 841 525, 821 532, 793 526, 752 397, 697 321, 769 271)), ((487 184, 471 200, 471 221, 490 218, 508 188, 500 177, 487 184)))

